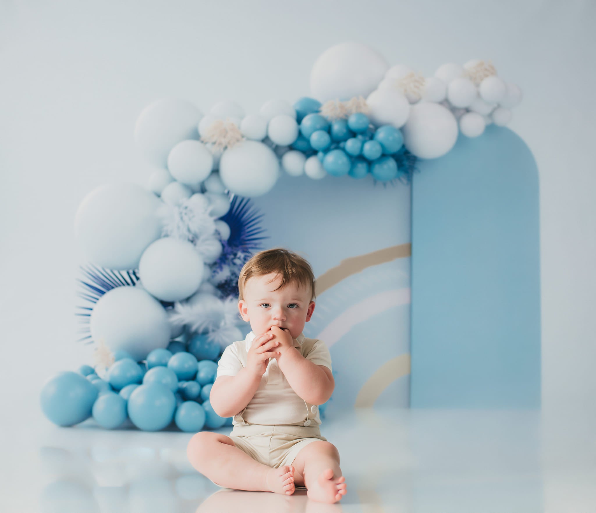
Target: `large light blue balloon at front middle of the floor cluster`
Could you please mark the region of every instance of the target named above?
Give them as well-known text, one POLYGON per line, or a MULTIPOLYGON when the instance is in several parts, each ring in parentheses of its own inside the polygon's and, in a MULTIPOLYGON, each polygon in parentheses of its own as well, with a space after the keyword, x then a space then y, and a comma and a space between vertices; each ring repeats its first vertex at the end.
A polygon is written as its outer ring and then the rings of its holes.
POLYGON ((132 423, 143 431, 159 431, 169 425, 175 408, 176 398, 172 390, 160 383, 142 384, 132 391, 128 399, 128 416, 132 423))

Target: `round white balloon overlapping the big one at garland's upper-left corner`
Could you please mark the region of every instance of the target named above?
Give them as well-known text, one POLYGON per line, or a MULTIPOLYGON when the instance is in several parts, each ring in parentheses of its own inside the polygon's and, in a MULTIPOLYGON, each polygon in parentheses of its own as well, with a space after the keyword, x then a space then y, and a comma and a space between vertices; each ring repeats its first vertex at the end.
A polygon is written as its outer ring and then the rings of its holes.
POLYGON ((182 141, 167 157, 167 169, 185 185, 196 185, 211 173, 213 155, 200 141, 182 141))

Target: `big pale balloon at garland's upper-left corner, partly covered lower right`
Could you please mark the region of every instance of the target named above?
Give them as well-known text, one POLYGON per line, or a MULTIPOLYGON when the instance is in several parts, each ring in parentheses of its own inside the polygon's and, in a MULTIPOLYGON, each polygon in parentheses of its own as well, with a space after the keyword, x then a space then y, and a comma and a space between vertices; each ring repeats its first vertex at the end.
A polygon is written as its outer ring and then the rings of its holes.
POLYGON ((165 167, 170 150, 185 139, 198 139, 197 125, 203 113, 178 98, 158 100, 136 120, 135 142, 151 163, 165 167))

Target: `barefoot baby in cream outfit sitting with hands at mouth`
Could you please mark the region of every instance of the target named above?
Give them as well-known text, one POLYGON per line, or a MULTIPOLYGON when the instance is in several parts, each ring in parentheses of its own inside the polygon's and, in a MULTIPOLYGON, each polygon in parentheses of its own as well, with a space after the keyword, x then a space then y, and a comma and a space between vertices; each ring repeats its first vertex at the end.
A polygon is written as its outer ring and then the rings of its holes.
POLYGON ((337 448, 321 436, 318 405, 335 386, 322 340, 302 334, 315 309, 315 278, 283 248, 260 251, 238 278, 238 309, 252 331, 226 347, 210 393, 213 410, 233 416, 230 436, 201 431, 188 443, 193 467, 237 490, 291 495, 306 487, 319 502, 346 493, 337 448))

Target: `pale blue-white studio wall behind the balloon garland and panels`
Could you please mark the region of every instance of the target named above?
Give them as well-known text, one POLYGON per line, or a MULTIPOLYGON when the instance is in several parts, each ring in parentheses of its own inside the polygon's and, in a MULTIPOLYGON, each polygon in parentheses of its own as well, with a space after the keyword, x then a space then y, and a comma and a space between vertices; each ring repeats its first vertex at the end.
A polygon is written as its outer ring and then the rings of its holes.
MULTIPOLYGON (((545 410, 596 396, 596 4, 589 1, 0 2, 1 416, 39 415, 42 383, 91 357, 75 343, 73 221, 113 181, 145 184, 136 118, 177 96, 247 113, 309 94, 316 57, 343 41, 427 76, 491 59, 524 92, 510 128, 541 188, 545 410)), ((514 186, 514 184, 511 184, 514 186)), ((313 186, 316 184, 313 183, 313 186)))

